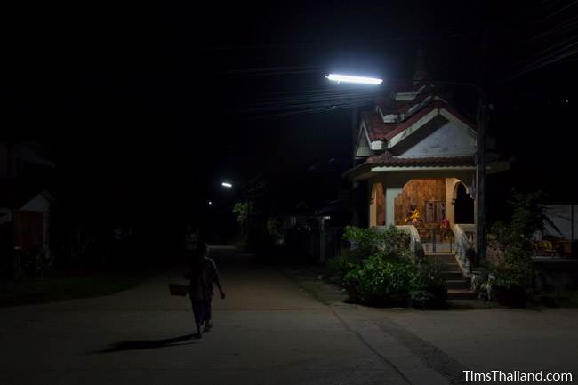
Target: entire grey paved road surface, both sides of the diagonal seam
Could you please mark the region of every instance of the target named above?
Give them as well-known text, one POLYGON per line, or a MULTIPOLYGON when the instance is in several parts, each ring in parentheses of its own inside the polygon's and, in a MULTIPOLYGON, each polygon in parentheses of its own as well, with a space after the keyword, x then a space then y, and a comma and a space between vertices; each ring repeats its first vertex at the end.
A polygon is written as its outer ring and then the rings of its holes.
POLYGON ((306 278, 227 247, 213 256, 228 297, 215 299, 202 340, 188 298, 167 293, 185 283, 175 269, 112 296, 0 309, 0 385, 441 385, 497 369, 578 378, 578 309, 325 306, 300 289, 306 278))

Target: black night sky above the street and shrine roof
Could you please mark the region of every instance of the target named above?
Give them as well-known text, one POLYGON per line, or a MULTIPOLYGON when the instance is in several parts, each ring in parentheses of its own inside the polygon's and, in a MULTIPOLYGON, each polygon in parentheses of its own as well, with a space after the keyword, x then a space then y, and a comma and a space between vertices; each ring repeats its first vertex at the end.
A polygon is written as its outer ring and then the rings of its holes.
MULTIPOLYGON (((54 190, 86 211, 198 213, 209 199, 229 202, 221 180, 259 176, 285 186, 279 199, 315 190, 331 200, 350 161, 348 107, 369 91, 323 76, 381 76, 387 87, 411 78, 421 49, 429 78, 486 88, 490 134, 514 160, 489 197, 543 188, 571 203, 578 7, 504 3, 14 9, 4 14, 3 139, 43 142, 59 162, 54 190), (334 92, 342 108, 328 109, 334 92)), ((455 94, 473 118, 475 95, 455 94)))

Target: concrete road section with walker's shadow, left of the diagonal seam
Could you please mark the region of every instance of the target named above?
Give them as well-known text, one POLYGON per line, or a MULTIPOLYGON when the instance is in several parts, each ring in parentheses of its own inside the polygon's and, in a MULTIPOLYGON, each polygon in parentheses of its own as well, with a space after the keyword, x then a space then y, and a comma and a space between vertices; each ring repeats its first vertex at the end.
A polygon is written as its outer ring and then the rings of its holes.
POLYGON ((407 383, 277 270, 213 252, 228 297, 202 340, 188 298, 167 293, 175 270, 113 296, 1 309, 0 384, 407 383))

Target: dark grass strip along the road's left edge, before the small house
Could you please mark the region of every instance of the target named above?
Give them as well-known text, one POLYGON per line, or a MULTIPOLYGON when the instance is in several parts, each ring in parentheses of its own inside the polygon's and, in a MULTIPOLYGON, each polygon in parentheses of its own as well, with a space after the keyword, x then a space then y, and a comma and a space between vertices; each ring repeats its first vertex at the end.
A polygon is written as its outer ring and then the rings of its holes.
POLYGON ((0 281, 0 307, 28 305, 122 292, 158 274, 158 269, 111 272, 93 277, 25 278, 0 281))

